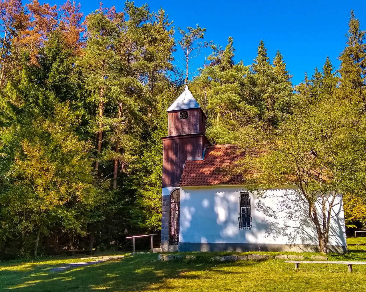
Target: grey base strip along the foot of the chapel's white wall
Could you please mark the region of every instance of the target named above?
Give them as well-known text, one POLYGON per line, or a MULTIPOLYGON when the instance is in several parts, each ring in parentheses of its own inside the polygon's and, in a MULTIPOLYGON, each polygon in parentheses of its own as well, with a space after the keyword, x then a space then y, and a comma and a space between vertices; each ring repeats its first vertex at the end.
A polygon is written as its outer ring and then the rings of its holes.
MULTIPOLYGON (((201 243, 179 242, 179 251, 296 251, 319 252, 318 245, 298 244, 267 244, 267 243, 201 243)), ((347 246, 330 245, 328 250, 332 253, 346 253, 347 246)))

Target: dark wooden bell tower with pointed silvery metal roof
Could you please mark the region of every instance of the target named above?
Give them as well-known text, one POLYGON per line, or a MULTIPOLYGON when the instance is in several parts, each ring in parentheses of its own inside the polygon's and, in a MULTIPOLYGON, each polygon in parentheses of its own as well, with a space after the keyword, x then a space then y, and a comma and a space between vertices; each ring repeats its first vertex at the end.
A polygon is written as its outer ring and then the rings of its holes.
POLYGON ((168 108, 168 136, 163 139, 163 188, 179 187, 186 160, 203 159, 206 116, 188 90, 168 108))

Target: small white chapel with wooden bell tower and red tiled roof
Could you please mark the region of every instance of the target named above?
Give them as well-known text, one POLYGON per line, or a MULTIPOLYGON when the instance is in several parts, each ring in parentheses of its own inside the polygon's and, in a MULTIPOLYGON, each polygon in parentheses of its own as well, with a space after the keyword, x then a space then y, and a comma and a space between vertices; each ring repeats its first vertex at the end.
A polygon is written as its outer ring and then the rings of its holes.
MULTIPOLYGON (((242 175, 224 171, 245 153, 208 143, 206 116, 188 86, 167 111, 160 251, 318 250, 307 202, 294 185, 258 195, 242 175)), ((346 252, 342 196, 336 200, 328 249, 346 252)))

